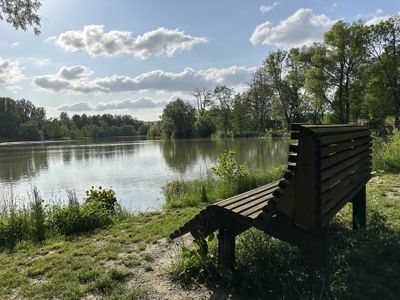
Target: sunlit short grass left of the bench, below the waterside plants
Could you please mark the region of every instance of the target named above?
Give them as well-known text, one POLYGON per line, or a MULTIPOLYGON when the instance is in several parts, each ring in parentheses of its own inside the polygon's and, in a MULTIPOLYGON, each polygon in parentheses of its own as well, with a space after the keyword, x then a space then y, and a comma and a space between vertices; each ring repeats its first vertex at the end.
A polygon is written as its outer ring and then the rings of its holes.
POLYGON ((0 252, 0 299, 146 299, 146 290, 128 284, 137 268, 154 261, 141 252, 196 212, 130 215, 90 234, 53 236, 42 244, 21 241, 0 252))

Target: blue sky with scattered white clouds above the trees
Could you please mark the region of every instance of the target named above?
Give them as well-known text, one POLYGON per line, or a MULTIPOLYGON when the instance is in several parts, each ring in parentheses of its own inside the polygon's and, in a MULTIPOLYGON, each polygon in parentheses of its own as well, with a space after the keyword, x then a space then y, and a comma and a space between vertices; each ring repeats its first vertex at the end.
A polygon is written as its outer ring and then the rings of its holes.
POLYGON ((0 96, 49 117, 158 120, 196 88, 243 91, 270 51, 321 41, 337 20, 399 11, 399 0, 47 0, 39 36, 0 22, 0 96))

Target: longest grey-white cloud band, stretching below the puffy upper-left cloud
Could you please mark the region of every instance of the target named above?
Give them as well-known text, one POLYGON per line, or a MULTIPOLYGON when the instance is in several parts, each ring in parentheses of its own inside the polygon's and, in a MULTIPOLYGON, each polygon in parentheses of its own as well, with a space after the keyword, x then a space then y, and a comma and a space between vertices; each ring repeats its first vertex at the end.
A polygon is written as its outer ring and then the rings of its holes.
POLYGON ((36 76, 33 84, 50 92, 115 93, 128 91, 191 92, 195 88, 213 88, 215 85, 239 86, 248 82, 255 67, 231 66, 196 71, 185 68, 182 72, 155 70, 135 77, 112 75, 90 78, 84 66, 62 67, 54 75, 36 76))

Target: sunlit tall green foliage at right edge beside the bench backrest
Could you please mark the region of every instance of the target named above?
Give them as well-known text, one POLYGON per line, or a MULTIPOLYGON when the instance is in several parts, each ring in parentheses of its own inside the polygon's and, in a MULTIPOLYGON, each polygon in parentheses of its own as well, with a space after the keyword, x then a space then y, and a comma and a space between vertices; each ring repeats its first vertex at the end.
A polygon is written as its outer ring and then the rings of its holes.
POLYGON ((400 131, 395 130, 386 141, 374 136, 372 167, 376 171, 400 172, 400 131))

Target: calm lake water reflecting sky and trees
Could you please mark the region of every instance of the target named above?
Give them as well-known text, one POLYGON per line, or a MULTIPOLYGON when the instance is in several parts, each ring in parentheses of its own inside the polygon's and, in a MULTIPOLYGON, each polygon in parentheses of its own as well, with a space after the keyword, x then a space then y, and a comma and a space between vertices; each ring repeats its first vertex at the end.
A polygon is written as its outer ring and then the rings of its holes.
POLYGON ((115 189, 131 210, 156 209, 163 204, 165 182, 205 177, 225 149, 250 168, 272 168, 287 159, 286 141, 261 138, 0 144, 0 192, 12 189, 16 198, 26 199, 36 186, 46 201, 60 201, 66 189, 83 199, 85 190, 101 185, 115 189))

